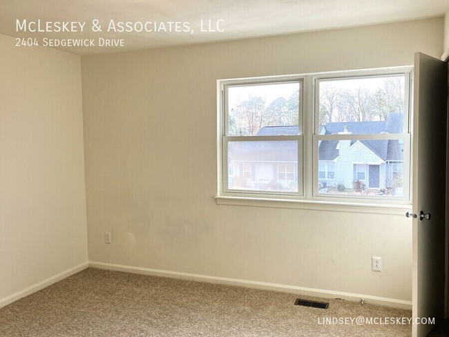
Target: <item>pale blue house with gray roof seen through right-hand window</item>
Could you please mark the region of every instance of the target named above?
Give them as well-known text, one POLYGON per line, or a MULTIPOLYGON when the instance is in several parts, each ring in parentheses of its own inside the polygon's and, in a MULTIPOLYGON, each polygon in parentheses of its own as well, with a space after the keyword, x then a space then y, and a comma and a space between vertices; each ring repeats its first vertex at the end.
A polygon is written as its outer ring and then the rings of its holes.
MULTIPOLYGON (((380 122, 335 122, 321 126, 321 135, 402 133, 403 114, 389 113, 380 122)), ((352 189, 360 181, 367 189, 402 192, 403 142, 389 140, 322 141, 318 153, 318 180, 327 187, 343 184, 352 189)))

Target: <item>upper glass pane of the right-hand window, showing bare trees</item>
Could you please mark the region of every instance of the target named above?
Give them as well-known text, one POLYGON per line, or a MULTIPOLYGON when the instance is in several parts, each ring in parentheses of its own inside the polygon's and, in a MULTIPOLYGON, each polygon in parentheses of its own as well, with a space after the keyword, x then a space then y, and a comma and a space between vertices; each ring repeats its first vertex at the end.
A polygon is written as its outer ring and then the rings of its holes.
POLYGON ((318 95, 326 134, 403 133, 404 75, 323 79, 318 95))

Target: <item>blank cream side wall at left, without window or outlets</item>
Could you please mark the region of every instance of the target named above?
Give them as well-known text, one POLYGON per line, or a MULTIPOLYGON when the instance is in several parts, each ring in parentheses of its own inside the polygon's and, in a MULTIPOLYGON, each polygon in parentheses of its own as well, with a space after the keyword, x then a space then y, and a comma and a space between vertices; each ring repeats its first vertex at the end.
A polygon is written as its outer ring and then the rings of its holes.
POLYGON ((81 95, 80 57, 0 35, 0 306, 87 260, 81 95))

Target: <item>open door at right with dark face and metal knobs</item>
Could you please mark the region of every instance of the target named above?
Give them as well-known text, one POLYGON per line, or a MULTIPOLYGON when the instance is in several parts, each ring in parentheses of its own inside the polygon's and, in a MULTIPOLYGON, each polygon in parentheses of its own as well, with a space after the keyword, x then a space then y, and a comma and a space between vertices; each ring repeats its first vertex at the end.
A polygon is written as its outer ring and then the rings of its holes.
POLYGON ((444 316, 447 65, 414 55, 412 336, 444 316))

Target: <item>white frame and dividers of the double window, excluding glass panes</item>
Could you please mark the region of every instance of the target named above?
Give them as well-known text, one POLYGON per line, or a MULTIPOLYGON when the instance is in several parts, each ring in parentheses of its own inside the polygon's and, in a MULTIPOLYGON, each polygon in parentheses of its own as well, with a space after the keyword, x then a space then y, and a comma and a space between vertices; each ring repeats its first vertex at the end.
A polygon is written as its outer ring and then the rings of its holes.
MULTIPOLYGON (((332 73, 310 73, 304 75, 288 75, 274 77, 254 77, 245 79, 224 79, 218 80, 218 194, 216 200, 218 204, 247 204, 251 206, 273 206, 283 208, 303 208, 303 209, 327 209, 347 206, 346 209, 358 209, 367 211, 373 208, 383 208, 385 212, 393 209, 406 209, 412 204, 411 194, 412 182, 411 175, 411 102, 412 102, 412 66, 393 67, 393 68, 375 68, 367 70, 336 71, 332 73), (381 77, 391 75, 405 76, 405 106, 403 133, 398 134, 370 134, 370 135, 320 135, 319 134, 319 102, 318 85, 323 79, 350 79, 361 77, 381 77), (248 85, 248 84, 267 84, 276 81, 301 81, 300 87, 300 111, 298 118, 298 136, 227 136, 227 86, 229 85, 248 85), (257 191, 229 191, 227 189, 227 144, 232 141, 245 140, 295 140, 298 142, 298 193, 265 193, 257 191), (318 143, 322 140, 352 139, 399 139, 403 142, 403 197, 385 197, 370 195, 325 195, 318 193, 318 143), (304 163, 304 164, 303 164, 304 163), (267 202, 264 202, 267 200, 267 202)), ((335 168, 334 168, 335 170, 335 168)), ((326 175, 327 177, 327 175, 326 175)), ((323 179, 321 179, 323 180, 323 179)), ((326 179, 328 180, 328 179, 326 179)), ((344 209, 344 208, 343 208, 344 209)), ((371 211, 367 211, 370 213, 371 211)))

